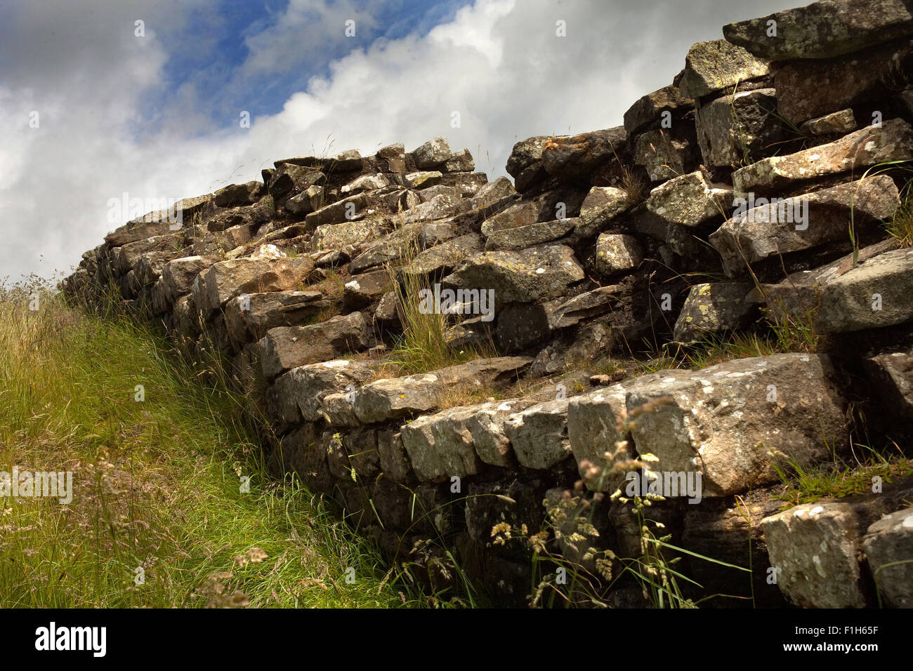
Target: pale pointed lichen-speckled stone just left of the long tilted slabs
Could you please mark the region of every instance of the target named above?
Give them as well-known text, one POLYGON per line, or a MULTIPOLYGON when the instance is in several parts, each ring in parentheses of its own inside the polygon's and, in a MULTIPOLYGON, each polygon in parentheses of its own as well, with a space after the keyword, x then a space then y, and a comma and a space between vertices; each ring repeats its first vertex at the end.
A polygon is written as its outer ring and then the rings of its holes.
POLYGON ((701 171, 683 174, 650 192, 646 207, 668 222, 687 226, 724 216, 732 206, 732 189, 715 184, 701 171))

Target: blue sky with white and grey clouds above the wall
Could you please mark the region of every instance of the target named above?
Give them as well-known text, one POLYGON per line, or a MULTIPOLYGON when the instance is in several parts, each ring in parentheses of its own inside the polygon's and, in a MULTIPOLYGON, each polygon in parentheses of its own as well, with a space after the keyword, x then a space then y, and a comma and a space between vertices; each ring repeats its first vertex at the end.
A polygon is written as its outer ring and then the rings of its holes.
POLYGON ((799 4, 0 0, 0 281, 68 272, 122 194, 208 194, 289 156, 443 135, 493 180, 514 142, 621 125, 692 44, 799 4))

